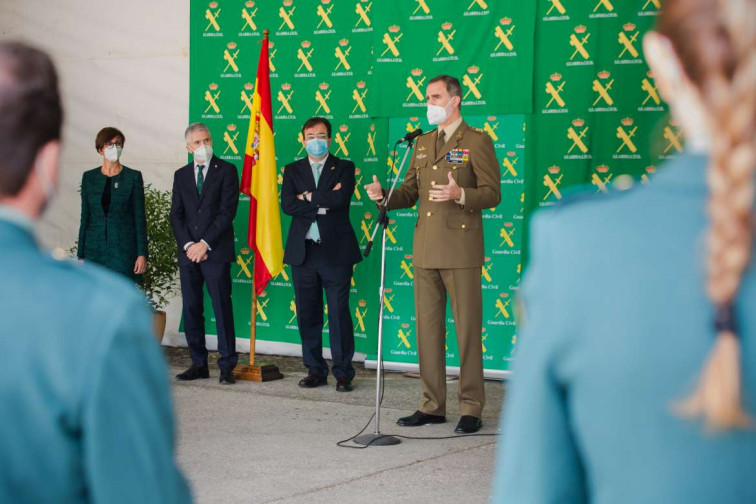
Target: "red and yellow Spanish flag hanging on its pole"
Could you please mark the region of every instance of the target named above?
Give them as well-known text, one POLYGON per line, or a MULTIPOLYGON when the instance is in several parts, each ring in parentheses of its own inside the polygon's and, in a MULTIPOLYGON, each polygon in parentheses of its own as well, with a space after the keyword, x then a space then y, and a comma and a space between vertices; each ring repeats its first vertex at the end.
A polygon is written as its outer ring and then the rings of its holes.
POLYGON ((254 288, 257 295, 283 269, 281 211, 271 110, 268 30, 265 30, 260 61, 257 64, 241 179, 241 192, 249 196, 247 243, 255 251, 254 288))

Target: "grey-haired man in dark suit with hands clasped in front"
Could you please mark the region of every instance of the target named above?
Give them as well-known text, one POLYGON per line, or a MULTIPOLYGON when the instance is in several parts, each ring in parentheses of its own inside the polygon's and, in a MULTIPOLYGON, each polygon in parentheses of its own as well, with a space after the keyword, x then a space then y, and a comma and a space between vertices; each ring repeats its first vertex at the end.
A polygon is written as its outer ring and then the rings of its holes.
POLYGON ((236 334, 231 306, 231 262, 234 251, 234 216, 239 204, 239 174, 231 163, 213 156, 213 139, 207 126, 190 124, 186 149, 194 161, 176 170, 173 178, 171 225, 179 249, 184 329, 192 366, 179 380, 208 378, 203 315, 203 284, 207 286, 218 328, 220 383, 232 384, 236 334))

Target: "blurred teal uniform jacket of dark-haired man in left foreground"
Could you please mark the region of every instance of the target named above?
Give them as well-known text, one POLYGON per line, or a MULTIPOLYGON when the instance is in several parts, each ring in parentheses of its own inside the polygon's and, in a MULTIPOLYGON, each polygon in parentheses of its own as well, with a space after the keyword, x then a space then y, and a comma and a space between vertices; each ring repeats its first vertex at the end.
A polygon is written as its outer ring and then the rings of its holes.
POLYGON ((144 295, 2 216, 0 243, 0 502, 190 502, 144 295))

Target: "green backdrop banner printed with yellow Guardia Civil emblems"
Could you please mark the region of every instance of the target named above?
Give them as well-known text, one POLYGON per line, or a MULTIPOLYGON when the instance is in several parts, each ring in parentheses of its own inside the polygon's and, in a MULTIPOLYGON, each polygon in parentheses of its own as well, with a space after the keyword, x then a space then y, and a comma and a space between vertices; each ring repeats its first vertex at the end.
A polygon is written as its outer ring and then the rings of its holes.
MULTIPOLYGON (((485 370, 508 369, 516 342, 514 298, 525 258, 527 218, 570 188, 611 190, 622 176, 643 183, 682 149, 641 54, 659 0, 191 0, 191 121, 207 123, 215 151, 241 169, 262 30, 270 30, 271 88, 279 182, 304 156, 302 123, 334 126, 331 152, 357 167, 350 215, 364 249, 377 217, 362 185, 386 182, 403 155, 390 145, 425 122, 430 78, 457 76, 467 121, 486 131, 500 162, 502 202, 484 213, 485 370)), ((237 337, 248 337, 249 202, 235 221, 232 268, 237 337)), ((412 209, 391 215, 384 357, 417 363, 412 209)), ((289 218, 282 220, 284 237, 289 218)), ((375 354, 380 254, 355 267, 351 309, 358 352, 375 354)), ((257 337, 296 351, 291 271, 274 278, 257 306, 257 337)), ((206 303, 207 332, 215 321, 206 303)), ((448 365, 458 362, 448 319, 448 365)), ((324 328, 324 333, 328 326, 324 328)), ((327 338, 325 338, 327 346, 327 338)), ((268 348, 274 348, 268 346, 268 348)), ((277 347, 275 347, 277 348, 277 347)))

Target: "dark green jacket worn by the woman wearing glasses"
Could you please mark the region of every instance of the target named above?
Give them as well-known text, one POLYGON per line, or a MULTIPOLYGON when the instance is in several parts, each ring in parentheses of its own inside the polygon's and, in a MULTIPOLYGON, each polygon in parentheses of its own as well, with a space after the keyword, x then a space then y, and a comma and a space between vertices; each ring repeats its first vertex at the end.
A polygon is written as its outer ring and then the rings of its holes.
POLYGON ((142 173, 124 166, 113 177, 107 216, 102 209, 106 179, 100 167, 81 178, 78 256, 138 282, 141 275, 134 274, 134 263, 138 256, 147 256, 142 173))

